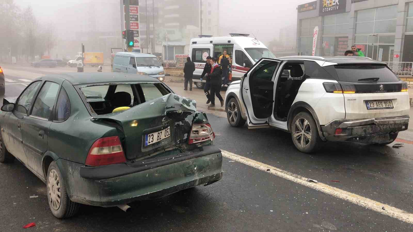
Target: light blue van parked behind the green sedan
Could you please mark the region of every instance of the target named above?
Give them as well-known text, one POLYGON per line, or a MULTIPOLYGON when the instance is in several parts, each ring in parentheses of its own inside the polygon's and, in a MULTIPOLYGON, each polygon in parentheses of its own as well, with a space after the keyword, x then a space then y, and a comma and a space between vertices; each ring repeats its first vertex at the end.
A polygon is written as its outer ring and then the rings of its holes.
POLYGON ((118 52, 113 59, 113 72, 137 73, 158 80, 165 80, 164 67, 152 54, 137 52, 118 52))

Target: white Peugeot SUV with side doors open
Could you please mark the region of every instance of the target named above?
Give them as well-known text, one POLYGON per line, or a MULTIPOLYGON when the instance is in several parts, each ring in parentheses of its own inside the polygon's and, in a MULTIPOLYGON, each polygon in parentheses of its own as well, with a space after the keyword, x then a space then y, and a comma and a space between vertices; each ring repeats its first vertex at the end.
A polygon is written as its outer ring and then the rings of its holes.
POLYGON ((389 144, 407 130, 407 83, 366 57, 261 59, 225 94, 230 125, 291 133, 301 152, 323 141, 389 144))

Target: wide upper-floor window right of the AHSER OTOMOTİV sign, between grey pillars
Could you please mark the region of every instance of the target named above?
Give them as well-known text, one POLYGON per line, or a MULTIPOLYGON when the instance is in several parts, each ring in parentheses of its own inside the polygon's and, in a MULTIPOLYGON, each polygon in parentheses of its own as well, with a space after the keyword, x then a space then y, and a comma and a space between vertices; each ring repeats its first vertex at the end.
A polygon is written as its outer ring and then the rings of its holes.
POLYGON ((396 32, 397 5, 356 12, 356 34, 396 32))

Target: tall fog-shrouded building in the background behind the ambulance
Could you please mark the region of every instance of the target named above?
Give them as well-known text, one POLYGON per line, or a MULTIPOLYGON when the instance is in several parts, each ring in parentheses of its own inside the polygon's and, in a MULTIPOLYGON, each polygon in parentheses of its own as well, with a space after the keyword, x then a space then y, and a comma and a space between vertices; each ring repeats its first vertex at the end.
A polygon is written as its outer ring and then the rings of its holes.
POLYGON ((191 38, 218 36, 218 0, 142 0, 139 8, 142 52, 173 60, 189 53, 191 38))

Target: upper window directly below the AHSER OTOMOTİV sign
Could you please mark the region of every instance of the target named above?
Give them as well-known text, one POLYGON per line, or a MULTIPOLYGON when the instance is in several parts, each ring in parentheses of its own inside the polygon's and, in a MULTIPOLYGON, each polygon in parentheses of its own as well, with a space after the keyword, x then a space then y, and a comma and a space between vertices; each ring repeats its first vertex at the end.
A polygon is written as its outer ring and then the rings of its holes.
POLYGON ((323 20, 323 35, 349 33, 349 14, 333 14, 325 16, 323 20))

